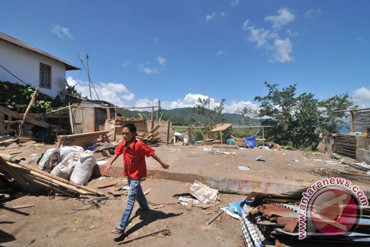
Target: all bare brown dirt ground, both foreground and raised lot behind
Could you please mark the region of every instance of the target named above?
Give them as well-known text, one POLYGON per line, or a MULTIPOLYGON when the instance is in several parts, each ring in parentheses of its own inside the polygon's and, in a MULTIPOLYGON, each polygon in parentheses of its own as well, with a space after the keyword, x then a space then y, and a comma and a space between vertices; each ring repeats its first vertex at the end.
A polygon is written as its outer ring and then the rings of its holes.
MULTIPOLYGON (((37 144, 22 147, 18 156, 41 155, 50 145, 37 144)), ((200 174, 211 177, 240 178, 255 181, 270 181, 309 186, 314 181, 328 176, 349 178, 363 190, 368 189, 369 176, 354 168, 347 172, 356 175, 339 174, 343 164, 327 165, 313 159, 332 160, 328 154, 314 154, 304 151, 271 151, 259 148, 245 150, 221 150, 236 154, 214 154, 203 151, 204 146, 182 147, 161 145, 156 153, 170 165, 168 172, 200 174), (176 149, 171 151, 171 148, 176 149), (262 155, 266 162, 256 161, 262 155), (249 171, 241 171, 237 166, 247 166, 249 171)), ((211 148, 211 146, 207 146, 211 148)), ((348 163, 354 160, 344 157, 348 163)), ((122 166, 118 159, 114 166, 122 166)), ((36 164, 33 163, 35 166, 36 164)), ((147 158, 148 169, 159 170, 161 166, 152 158, 147 158)), ((119 178, 102 177, 91 180, 87 186, 95 188, 119 178)), ((124 179, 122 181, 125 181, 124 179)), ((47 193, 30 194, 16 200, 0 201, 0 246, 115 246, 125 237, 132 239, 141 234, 157 231, 168 226, 171 236, 151 236, 135 240, 127 246, 242 246, 240 223, 227 215, 221 215, 210 226, 205 222, 219 211, 217 206, 203 210, 193 207, 186 210, 178 203, 177 193, 186 193, 191 184, 170 180, 147 179, 143 189, 151 188, 147 195, 151 209, 144 215, 133 217, 127 234, 119 237, 109 231, 119 223, 125 207, 126 197, 110 196, 101 207, 86 209, 94 197, 68 198, 48 196, 47 193), (10 207, 33 204, 35 207, 12 210, 10 207), (87 205, 84 205, 87 204, 87 205), (164 207, 154 208, 155 205, 164 207), (77 210, 76 210, 77 209, 77 210), (33 212, 33 210, 35 210, 33 212), (33 212, 31 215, 29 215, 33 212), (208 214, 211 212, 210 214, 208 214), (207 213, 207 214, 206 214, 207 213), (13 241, 12 241, 13 240, 13 241), (32 242, 33 241, 33 242, 32 242), (32 243, 31 243, 32 242, 32 243), (31 244, 30 244, 31 243, 31 244)), ((104 190, 104 189, 102 189, 104 190)), ((0 193, 9 193, 0 183, 0 193), (3 188, 1 188, 3 187, 3 188)), ((11 191, 10 191, 11 192, 11 191)), ((238 201, 244 196, 219 194, 221 206, 238 201)), ((138 207, 135 204, 134 210, 138 207)))

